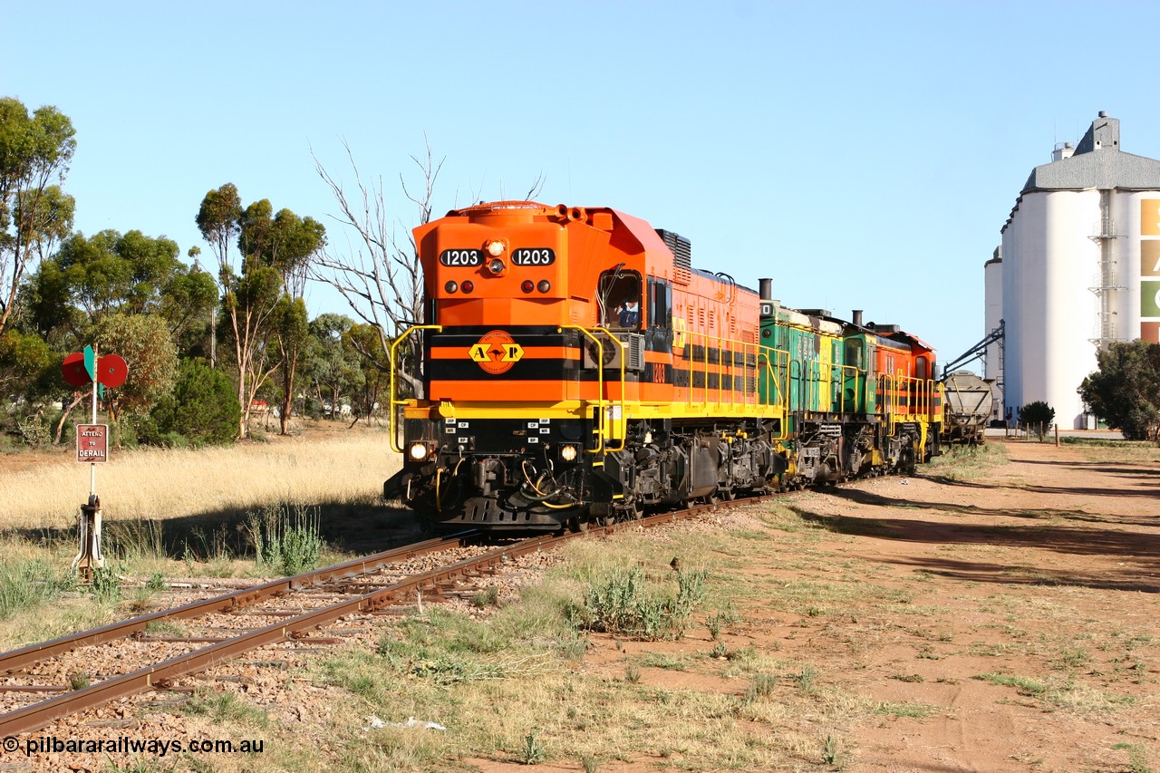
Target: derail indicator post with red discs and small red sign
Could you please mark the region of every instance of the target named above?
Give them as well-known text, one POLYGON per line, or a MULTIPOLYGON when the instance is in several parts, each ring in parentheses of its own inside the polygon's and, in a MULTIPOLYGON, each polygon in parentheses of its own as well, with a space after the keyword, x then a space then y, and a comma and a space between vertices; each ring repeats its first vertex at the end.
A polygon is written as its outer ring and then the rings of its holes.
POLYGON ((101 498, 96 496, 96 465, 109 458, 109 425, 96 422, 97 392, 104 386, 117 388, 125 383, 128 366, 116 354, 96 356, 96 348, 86 346, 65 357, 61 366, 65 381, 73 386, 93 384, 93 421, 77 425, 77 461, 89 464, 88 503, 80 506, 80 551, 72 562, 72 571, 93 581, 93 572, 104 566, 101 555, 101 498))

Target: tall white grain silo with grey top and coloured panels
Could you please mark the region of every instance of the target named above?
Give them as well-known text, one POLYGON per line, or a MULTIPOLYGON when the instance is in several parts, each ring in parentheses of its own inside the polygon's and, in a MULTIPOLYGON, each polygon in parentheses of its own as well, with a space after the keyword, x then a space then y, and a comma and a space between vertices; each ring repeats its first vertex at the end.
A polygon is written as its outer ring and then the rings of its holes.
POLYGON ((1119 121, 1100 113, 1031 172, 1000 255, 986 305, 1005 323, 1005 407, 1045 400, 1060 427, 1088 426, 1075 390, 1096 348, 1160 332, 1160 161, 1121 151, 1119 121))

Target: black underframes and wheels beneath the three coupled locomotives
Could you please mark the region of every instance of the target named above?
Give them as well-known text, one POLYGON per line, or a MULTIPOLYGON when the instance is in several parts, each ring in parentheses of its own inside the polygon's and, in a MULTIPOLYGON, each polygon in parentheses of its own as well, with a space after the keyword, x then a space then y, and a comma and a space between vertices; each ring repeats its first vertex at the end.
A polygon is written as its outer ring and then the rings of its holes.
POLYGON ((797 438, 755 419, 632 420, 623 445, 595 447, 587 420, 408 421, 407 442, 437 446, 384 484, 440 527, 557 530, 715 498, 909 471, 919 427, 798 414, 797 438), (565 454, 571 447, 575 454, 565 454), (878 456, 875 457, 877 449, 878 456), (792 469, 792 472, 790 471, 792 469))

